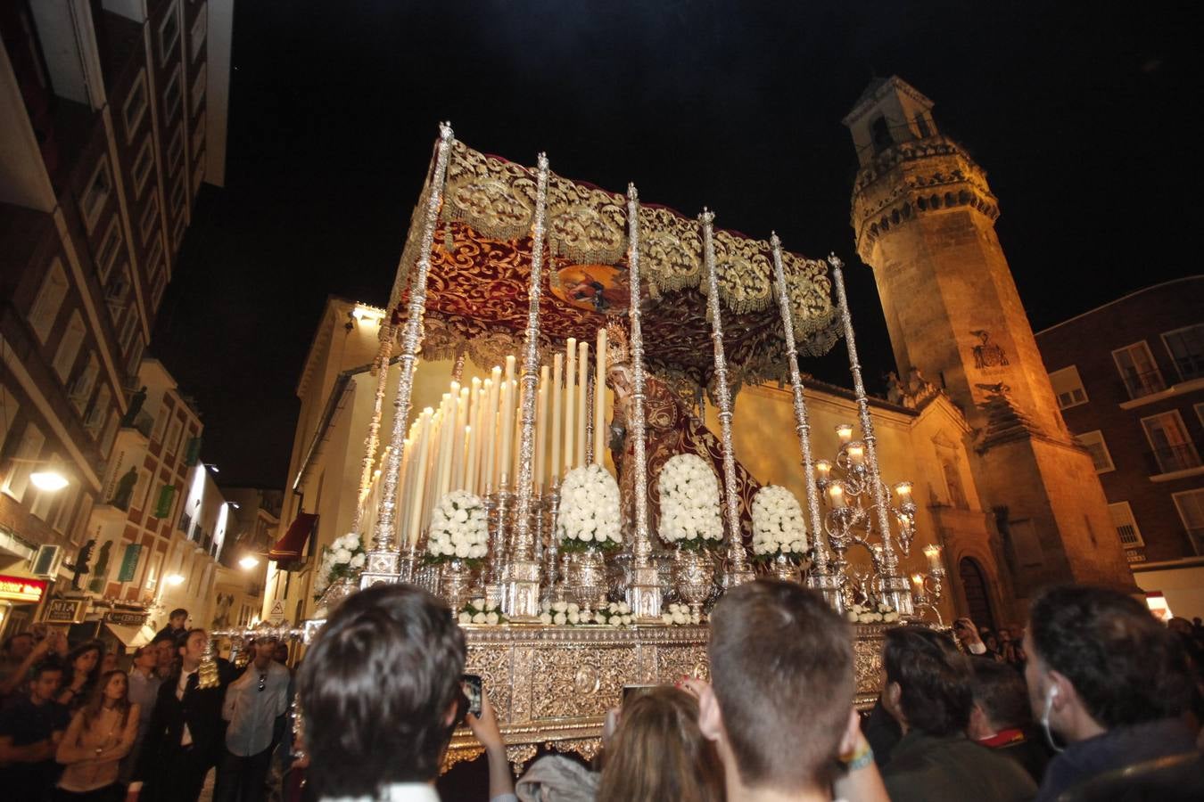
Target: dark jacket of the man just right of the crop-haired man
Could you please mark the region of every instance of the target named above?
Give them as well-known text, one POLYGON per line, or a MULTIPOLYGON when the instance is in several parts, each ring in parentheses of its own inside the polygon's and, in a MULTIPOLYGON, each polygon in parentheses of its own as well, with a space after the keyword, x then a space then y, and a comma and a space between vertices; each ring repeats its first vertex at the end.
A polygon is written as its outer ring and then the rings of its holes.
POLYGON ((964 736, 917 730, 895 744, 883 780, 892 802, 1027 802, 1037 795, 1033 778, 1014 760, 964 736))

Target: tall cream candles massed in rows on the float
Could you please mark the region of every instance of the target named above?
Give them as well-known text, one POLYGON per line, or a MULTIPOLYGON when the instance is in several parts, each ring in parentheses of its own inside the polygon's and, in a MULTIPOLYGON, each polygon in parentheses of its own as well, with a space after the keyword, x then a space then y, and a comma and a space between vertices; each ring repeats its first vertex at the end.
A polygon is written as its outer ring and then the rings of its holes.
MULTIPOLYGON (((603 459, 607 333, 598 329, 590 382, 590 345, 568 338, 551 366, 541 366, 536 386, 536 492, 563 473, 586 464, 588 415, 594 405, 592 462, 603 459), (592 393, 590 392, 592 390, 592 393), (592 396, 592 397, 591 397, 592 396), (550 415, 549 415, 550 404, 550 415)), ((397 507, 399 542, 415 543, 439 499, 452 491, 477 495, 513 492, 523 432, 521 384, 515 358, 507 356, 488 378, 462 386, 452 381, 438 409, 424 409, 411 423, 402 452, 397 507)), ((379 471, 378 471, 379 473, 379 471)))

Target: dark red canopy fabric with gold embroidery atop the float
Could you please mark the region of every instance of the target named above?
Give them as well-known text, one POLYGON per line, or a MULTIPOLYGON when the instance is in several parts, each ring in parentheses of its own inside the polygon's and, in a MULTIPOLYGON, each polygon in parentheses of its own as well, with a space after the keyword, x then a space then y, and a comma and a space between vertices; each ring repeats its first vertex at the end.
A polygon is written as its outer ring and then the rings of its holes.
MULTIPOLYGON (((432 161, 433 165, 433 161, 432 161)), ((418 260, 430 173, 402 251, 395 287, 418 260)), ((466 352, 489 368, 515 354, 526 331, 536 174, 455 142, 439 224, 431 246, 423 354, 466 352)), ((639 210, 641 287, 647 367, 679 390, 707 387, 714 370, 702 227, 650 204, 639 210)), ((553 174, 548 185, 545 286, 539 308, 544 362, 565 339, 592 340, 607 315, 626 315, 627 200, 553 174)), ((715 262, 724 345, 733 385, 778 379, 787 370, 769 243, 716 231, 715 262)), ((827 265, 783 253, 798 351, 825 354, 836 341, 827 265)), ((406 314, 403 292, 390 298, 406 314)))

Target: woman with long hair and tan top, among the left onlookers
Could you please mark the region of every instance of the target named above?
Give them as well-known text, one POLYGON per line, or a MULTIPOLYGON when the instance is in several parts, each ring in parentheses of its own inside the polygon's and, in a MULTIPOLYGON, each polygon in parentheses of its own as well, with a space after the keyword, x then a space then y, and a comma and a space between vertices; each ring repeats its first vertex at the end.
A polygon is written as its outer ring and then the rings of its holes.
POLYGON ((108 671, 59 742, 55 760, 66 765, 66 770, 54 798, 120 800, 124 789, 117 782, 117 773, 137 733, 138 706, 129 700, 129 678, 124 671, 108 671))

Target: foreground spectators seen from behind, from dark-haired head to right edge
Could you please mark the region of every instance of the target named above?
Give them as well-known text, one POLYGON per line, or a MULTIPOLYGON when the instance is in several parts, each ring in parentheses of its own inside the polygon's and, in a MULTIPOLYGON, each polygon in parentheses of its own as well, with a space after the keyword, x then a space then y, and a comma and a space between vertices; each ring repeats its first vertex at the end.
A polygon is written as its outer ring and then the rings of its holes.
POLYGON ((465 638, 447 606, 371 588, 299 672, 307 796, 437 802, 462 723, 485 749, 492 802, 1204 798, 1198 630, 1169 629, 1121 593, 1064 587, 1033 601, 1020 638, 992 647, 964 619, 955 632, 961 646, 927 626, 887 630, 863 720, 849 624, 798 584, 740 586, 710 618, 709 682, 627 696, 594 765, 545 755, 515 782, 488 688, 479 715, 467 711, 465 638))

